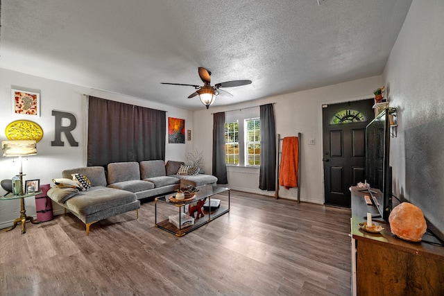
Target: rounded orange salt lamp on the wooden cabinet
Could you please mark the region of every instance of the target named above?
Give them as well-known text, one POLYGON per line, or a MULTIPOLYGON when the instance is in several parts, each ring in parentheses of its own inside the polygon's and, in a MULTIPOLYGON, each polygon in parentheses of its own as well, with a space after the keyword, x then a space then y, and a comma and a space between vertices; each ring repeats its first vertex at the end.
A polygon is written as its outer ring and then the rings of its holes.
POLYGON ((427 223, 420 208, 409 202, 402 202, 393 208, 388 216, 391 232, 405 241, 421 241, 427 230, 427 223))

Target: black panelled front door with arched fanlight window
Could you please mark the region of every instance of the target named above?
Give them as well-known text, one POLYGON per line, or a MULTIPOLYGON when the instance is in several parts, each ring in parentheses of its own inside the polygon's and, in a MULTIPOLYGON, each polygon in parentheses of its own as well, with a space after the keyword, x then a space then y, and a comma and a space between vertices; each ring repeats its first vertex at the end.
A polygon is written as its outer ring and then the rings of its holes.
POLYGON ((323 105, 324 202, 350 207, 350 186, 366 178, 366 126, 373 98, 323 105))

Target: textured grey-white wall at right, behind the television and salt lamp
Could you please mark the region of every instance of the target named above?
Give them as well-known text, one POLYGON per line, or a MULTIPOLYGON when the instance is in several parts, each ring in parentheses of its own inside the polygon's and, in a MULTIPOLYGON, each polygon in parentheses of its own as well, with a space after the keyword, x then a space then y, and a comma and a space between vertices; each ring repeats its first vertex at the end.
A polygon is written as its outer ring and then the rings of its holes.
POLYGON ((444 1, 413 0, 383 80, 398 108, 393 191, 444 232, 444 1))

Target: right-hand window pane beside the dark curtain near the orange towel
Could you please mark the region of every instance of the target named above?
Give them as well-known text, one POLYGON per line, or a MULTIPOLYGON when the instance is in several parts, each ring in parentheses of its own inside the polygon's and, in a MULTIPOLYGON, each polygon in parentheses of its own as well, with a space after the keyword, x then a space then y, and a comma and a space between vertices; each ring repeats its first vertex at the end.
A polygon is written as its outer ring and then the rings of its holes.
POLYGON ((261 155, 260 119, 245 120, 245 153, 247 166, 259 166, 261 155))

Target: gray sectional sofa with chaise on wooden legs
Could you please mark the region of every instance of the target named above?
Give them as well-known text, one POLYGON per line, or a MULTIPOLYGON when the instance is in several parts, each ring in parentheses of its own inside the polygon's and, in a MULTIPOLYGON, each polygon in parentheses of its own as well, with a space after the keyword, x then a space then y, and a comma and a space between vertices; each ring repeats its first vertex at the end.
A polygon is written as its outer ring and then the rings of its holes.
POLYGON ((108 164, 108 176, 101 166, 87 166, 62 171, 62 177, 71 179, 73 174, 85 175, 91 182, 87 191, 73 188, 53 187, 48 196, 68 209, 86 225, 99 220, 138 209, 142 198, 172 193, 179 189, 180 180, 187 184, 216 186, 217 178, 212 175, 178 175, 184 162, 149 160, 137 162, 114 162, 108 164))

